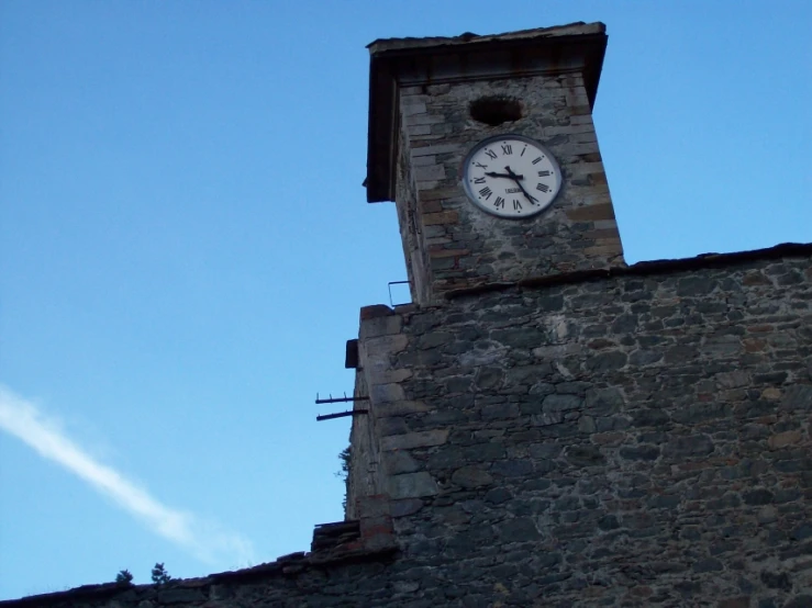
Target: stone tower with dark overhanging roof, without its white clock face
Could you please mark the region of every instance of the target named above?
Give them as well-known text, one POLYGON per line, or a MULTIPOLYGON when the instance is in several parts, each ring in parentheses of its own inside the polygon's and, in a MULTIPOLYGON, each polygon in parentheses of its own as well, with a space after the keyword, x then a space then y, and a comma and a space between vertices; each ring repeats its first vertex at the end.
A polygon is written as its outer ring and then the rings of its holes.
POLYGON ((605 45, 603 24, 575 23, 369 46, 367 200, 397 203, 413 302, 624 264, 592 124, 605 45), (466 155, 503 134, 560 167, 557 196, 532 217, 494 216, 466 194, 466 155))

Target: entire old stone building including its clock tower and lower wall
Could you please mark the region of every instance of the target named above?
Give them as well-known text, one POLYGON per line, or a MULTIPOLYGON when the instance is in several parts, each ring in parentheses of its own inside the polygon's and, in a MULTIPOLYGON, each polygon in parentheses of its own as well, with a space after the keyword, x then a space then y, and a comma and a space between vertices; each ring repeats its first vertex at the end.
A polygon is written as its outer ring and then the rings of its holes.
POLYGON ((367 193, 413 303, 348 344, 346 521, 254 568, 0 606, 812 606, 812 246, 626 266, 605 43, 370 45, 367 193))

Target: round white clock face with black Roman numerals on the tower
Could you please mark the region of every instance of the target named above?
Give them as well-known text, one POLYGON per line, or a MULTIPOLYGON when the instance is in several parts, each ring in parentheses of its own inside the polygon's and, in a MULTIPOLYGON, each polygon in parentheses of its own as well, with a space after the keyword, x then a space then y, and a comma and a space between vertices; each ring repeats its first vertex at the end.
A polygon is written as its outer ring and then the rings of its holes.
POLYGON ((538 142, 521 135, 489 137, 463 165, 468 198, 499 217, 521 218, 547 209, 561 188, 561 171, 538 142))

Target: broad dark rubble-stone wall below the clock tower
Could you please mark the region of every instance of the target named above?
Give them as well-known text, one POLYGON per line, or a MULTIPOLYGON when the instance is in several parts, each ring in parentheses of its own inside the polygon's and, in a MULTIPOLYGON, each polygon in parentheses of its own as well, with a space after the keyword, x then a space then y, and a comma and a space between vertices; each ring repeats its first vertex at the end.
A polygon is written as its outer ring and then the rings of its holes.
POLYGON ((809 249, 726 263, 363 322, 418 597, 812 605, 809 249))

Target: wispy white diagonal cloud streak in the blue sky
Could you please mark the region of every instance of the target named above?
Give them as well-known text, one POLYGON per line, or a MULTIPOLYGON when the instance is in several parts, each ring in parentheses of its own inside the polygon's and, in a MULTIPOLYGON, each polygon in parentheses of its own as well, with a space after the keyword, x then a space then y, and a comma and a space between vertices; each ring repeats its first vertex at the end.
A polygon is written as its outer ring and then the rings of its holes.
POLYGON ((97 492, 118 503, 154 532, 190 551, 209 564, 253 562, 251 542, 242 536, 204 521, 193 514, 168 507, 122 473, 93 459, 36 406, 0 384, 0 429, 18 437, 97 492))

